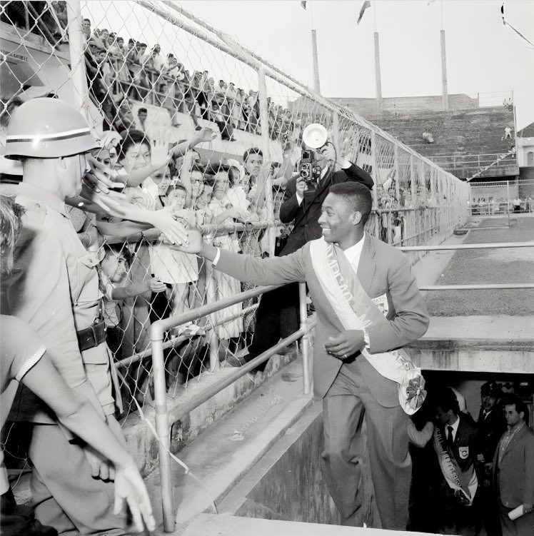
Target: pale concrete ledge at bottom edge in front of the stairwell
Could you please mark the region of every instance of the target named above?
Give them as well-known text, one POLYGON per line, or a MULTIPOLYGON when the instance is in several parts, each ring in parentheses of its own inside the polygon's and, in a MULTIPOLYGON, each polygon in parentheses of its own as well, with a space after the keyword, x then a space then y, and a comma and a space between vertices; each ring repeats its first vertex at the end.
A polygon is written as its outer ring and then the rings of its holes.
MULTIPOLYGON (((233 515, 199 515, 181 536, 388 536, 393 530, 318 525, 295 521, 261 520, 233 515)), ((422 532, 403 532, 405 536, 422 535, 422 532)))

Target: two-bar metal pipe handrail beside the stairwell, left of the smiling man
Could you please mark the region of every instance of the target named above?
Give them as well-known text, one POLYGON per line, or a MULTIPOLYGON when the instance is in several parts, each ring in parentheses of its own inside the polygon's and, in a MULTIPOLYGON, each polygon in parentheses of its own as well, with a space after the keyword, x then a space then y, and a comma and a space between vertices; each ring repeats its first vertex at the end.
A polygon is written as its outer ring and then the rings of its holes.
MULTIPOLYGON (((172 496, 172 481, 171 481, 171 438, 170 438, 170 425, 168 422, 168 408, 167 408, 167 392, 166 392, 166 380, 165 380, 165 362, 163 358, 163 336, 166 330, 176 328, 178 325, 182 325, 186 322, 191 322, 206 315, 216 313, 216 311, 223 308, 240 303, 243 300, 249 298, 255 298, 258 295, 266 293, 275 288, 280 288, 283 285, 270 285, 253 288, 246 292, 239 293, 232 298, 226 298, 208 305, 202 305, 193 310, 186 311, 180 315, 176 315, 170 318, 162 318, 156 320, 150 328, 150 338, 152 345, 152 371, 153 371, 153 387, 154 387, 154 408, 156 411, 156 433, 158 434, 158 459, 160 470, 160 482, 161 482, 161 503, 163 507, 163 530, 166 532, 173 532, 174 530, 174 515, 173 515, 173 496, 172 496)), ((257 365, 271 358, 278 350, 285 348, 287 345, 293 343, 293 341, 302 338, 302 360, 303 360, 303 388, 304 394, 309 394, 311 389, 310 383, 310 371, 309 371, 309 358, 308 358, 308 333, 311 327, 315 325, 312 321, 308 323, 308 314, 306 308, 306 283, 299 283, 299 313, 301 317, 301 327, 292 335, 289 335, 285 339, 281 340, 278 344, 269 348, 266 352, 258 355, 258 357, 251 360, 249 363, 236 370, 221 382, 209 387, 205 393, 198 395, 191 399, 188 403, 181 406, 178 411, 181 414, 191 411, 194 408, 198 408, 203 402, 208 400, 211 396, 219 393, 221 390, 231 385, 234 381, 241 378, 241 376, 248 373, 257 365)))

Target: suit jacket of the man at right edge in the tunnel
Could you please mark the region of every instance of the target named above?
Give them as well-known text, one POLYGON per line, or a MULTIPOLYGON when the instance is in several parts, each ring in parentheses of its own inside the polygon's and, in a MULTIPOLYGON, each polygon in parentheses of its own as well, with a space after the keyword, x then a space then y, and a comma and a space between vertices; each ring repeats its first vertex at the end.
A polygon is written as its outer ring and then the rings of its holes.
MULTIPOLYGON (((504 436, 503 436, 504 437, 504 436)), ((502 441, 502 438, 501 438, 502 441)), ((534 432, 523 426, 506 447, 498 463, 499 445, 493 457, 493 477, 500 500, 508 508, 534 504, 534 432)))

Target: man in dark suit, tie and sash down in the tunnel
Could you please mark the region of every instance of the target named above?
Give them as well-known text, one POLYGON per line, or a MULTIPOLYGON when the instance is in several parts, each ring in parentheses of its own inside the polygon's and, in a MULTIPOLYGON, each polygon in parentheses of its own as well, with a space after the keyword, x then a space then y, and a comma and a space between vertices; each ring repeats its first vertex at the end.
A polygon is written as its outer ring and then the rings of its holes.
POLYGON ((435 440, 434 447, 443 472, 440 529, 445 532, 440 533, 475 536, 478 531, 473 500, 480 470, 478 432, 460 412, 458 400, 449 388, 438 396, 435 413, 441 441, 435 440))

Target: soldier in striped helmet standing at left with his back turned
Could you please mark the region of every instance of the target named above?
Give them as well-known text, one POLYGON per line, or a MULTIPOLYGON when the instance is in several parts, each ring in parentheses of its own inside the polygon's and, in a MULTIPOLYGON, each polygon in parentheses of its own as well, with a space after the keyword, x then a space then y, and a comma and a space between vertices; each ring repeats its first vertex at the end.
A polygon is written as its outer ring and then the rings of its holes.
MULTIPOLYGON (((84 117, 56 99, 28 101, 11 119, 6 156, 23 166, 11 193, 25 214, 11 277, 2 280, 2 313, 34 328, 66 383, 91 400, 126 445, 114 418, 115 368, 105 342, 98 259, 81 245, 64 205, 81 192, 86 154, 97 147, 84 117)), ((37 519, 59 534, 125 534, 125 520, 113 511, 107 460, 60 428, 28 390, 18 393, 13 408, 9 420, 34 423, 29 457, 37 519)))

